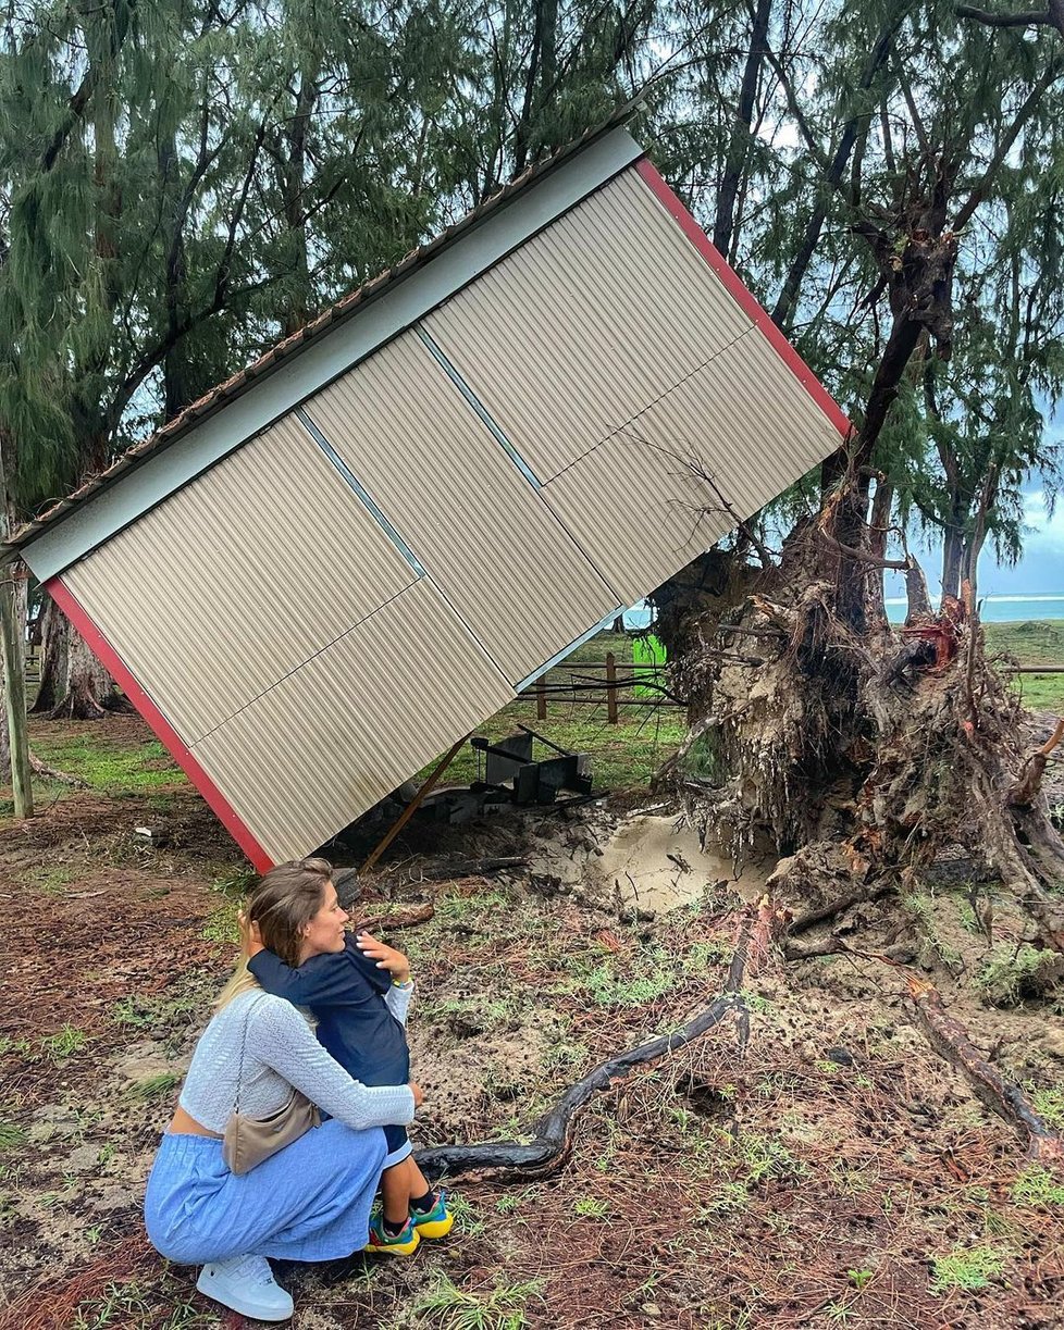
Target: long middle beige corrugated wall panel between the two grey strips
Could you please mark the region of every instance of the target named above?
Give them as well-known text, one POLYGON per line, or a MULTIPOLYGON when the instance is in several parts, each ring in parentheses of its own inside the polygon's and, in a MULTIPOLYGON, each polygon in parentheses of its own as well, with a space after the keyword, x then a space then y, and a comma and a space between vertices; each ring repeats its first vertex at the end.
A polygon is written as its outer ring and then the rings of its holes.
POLYGON ((416 334, 306 411, 511 682, 617 608, 416 334))

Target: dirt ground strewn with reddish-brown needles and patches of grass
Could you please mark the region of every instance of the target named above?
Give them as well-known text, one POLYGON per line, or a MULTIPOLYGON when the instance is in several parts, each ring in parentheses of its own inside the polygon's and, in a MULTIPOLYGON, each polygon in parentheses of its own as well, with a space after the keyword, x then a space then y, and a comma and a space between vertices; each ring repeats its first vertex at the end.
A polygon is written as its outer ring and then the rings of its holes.
MULTIPOLYGON (((105 726, 92 742, 118 754, 146 739, 105 726)), ((419 982, 420 1142, 527 1140, 597 1063, 708 1005, 771 867, 732 880, 645 790, 403 838, 352 890, 362 919, 434 906, 388 934, 419 982), (447 872, 488 855, 527 863, 447 872)), ((935 983, 1064 1129, 1060 975, 971 876, 958 849, 803 938, 847 954, 766 958, 745 1052, 729 1020, 593 1100, 551 1176, 459 1180, 447 1241, 279 1265, 293 1325, 1064 1326, 1064 1177, 928 1047, 908 998, 911 975, 935 983)), ((246 882, 176 773, 0 823, 0 1330, 245 1325, 150 1252, 141 1200, 246 882), (166 846, 136 837, 160 819, 166 846)))

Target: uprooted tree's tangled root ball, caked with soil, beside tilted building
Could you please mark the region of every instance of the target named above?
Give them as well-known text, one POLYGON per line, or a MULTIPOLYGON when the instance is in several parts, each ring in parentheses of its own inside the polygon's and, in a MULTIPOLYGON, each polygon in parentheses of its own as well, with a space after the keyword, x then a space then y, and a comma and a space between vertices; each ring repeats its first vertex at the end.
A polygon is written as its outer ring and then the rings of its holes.
POLYGON ((947 601, 899 634, 880 605, 855 632, 818 560, 815 531, 799 527, 778 565, 700 568, 697 581, 692 568, 686 592, 666 592, 661 630, 690 732, 664 779, 737 863, 766 841, 783 857, 771 887, 797 916, 904 886, 962 845, 1032 916, 1031 940, 1064 950, 1044 754, 978 618, 947 601))

